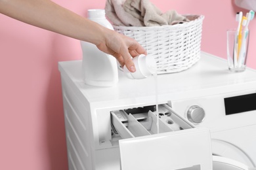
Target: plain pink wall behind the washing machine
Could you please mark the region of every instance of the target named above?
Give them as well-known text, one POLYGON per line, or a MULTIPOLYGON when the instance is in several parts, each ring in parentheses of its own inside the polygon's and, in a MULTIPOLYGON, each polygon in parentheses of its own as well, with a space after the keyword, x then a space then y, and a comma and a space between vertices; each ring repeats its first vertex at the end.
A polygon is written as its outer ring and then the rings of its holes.
MULTIPOLYGON (((85 16, 100 0, 55 0, 85 16)), ((232 1, 152 0, 162 11, 203 14, 202 50, 226 57, 226 29, 236 27, 232 1)), ((245 11, 245 10, 244 10, 245 11)), ((256 69, 256 19, 249 67, 256 69)), ((58 61, 81 59, 79 41, 0 14, 0 169, 66 170, 66 142, 58 61)))

